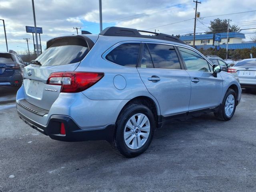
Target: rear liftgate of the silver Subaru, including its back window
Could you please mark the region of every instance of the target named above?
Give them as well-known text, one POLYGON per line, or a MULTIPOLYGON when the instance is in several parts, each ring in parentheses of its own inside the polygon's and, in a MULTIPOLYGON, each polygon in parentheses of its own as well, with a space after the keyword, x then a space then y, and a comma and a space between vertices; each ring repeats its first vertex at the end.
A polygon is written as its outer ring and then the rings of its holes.
POLYGON ((55 38, 47 42, 47 49, 36 61, 24 68, 25 99, 39 108, 50 110, 61 90, 59 85, 47 84, 53 72, 74 71, 94 43, 85 36, 55 38))

